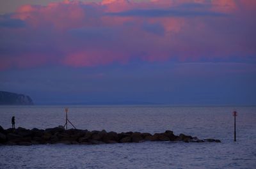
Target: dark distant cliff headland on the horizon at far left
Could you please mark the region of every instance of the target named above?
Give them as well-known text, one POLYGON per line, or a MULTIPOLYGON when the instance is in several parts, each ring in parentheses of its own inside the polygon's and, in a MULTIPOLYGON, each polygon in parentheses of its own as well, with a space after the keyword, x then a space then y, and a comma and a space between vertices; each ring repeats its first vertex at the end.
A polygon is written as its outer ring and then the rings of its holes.
POLYGON ((0 105, 34 105, 33 100, 24 94, 0 91, 0 105))

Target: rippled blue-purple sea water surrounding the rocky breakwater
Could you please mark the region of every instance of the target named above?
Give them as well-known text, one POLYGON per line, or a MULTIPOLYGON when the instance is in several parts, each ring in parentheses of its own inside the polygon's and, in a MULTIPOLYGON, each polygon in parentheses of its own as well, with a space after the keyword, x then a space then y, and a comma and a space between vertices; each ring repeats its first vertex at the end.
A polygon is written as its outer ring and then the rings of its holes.
MULTIPOLYGON (((62 106, 0 107, 0 125, 52 128, 62 106)), ((256 107, 69 106, 79 129, 184 133, 222 143, 0 146, 0 168, 256 168, 256 107), (237 110, 237 142, 233 142, 237 110)), ((71 126, 68 126, 71 127, 71 126)))

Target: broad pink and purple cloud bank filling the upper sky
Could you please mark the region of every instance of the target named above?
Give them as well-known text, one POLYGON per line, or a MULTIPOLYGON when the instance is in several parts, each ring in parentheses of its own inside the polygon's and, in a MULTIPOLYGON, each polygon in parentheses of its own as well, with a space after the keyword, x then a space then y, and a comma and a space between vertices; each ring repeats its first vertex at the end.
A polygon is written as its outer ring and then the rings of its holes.
POLYGON ((250 0, 28 4, 10 16, 12 22, 22 20, 26 27, 19 31, 0 27, 4 37, 0 45, 8 50, 0 52, 0 69, 52 63, 100 66, 125 64, 132 59, 243 59, 256 54, 252 37, 256 29, 252 17, 255 6, 255 1, 250 0))

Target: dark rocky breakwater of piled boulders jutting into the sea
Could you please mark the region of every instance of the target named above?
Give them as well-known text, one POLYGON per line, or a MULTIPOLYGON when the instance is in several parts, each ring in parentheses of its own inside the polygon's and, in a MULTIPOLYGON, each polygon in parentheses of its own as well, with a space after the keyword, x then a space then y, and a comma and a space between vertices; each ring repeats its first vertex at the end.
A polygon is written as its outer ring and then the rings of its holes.
POLYGON ((101 143, 140 143, 145 141, 165 142, 220 142, 212 138, 200 140, 197 137, 180 134, 174 135, 173 131, 164 133, 140 133, 126 132, 116 133, 113 131, 88 131, 87 129, 67 129, 63 126, 49 129, 3 129, 0 126, 0 145, 36 145, 36 144, 101 144, 101 143))

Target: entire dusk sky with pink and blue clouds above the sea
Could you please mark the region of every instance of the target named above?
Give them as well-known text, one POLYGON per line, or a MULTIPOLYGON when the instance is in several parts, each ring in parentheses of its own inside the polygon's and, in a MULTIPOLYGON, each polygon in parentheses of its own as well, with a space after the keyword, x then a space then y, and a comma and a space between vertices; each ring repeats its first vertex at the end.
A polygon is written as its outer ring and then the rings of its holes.
POLYGON ((39 105, 256 105, 254 0, 0 6, 0 91, 39 105))

